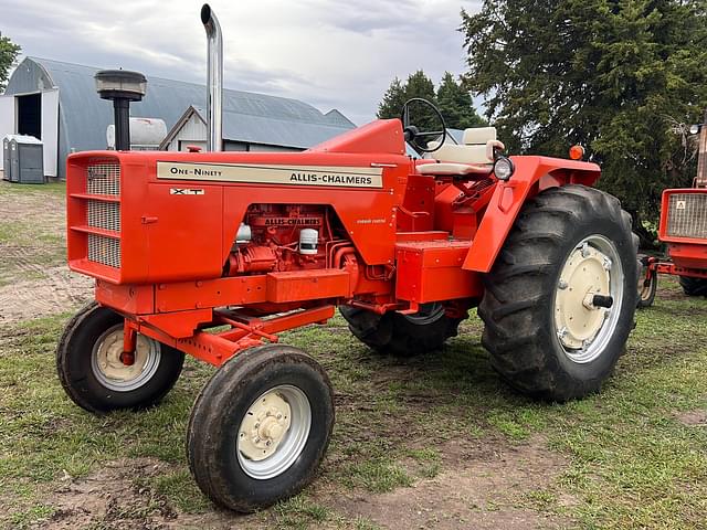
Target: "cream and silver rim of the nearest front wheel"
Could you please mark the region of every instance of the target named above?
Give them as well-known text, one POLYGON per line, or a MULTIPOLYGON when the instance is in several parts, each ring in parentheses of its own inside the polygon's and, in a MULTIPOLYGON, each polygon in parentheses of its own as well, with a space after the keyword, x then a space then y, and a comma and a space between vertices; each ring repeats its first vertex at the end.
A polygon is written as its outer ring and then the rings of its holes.
POLYGON ((306 394, 281 384, 261 394, 245 412, 235 451, 243 471, 256 480, 285 473, 299 458, 312 428, 306 394))

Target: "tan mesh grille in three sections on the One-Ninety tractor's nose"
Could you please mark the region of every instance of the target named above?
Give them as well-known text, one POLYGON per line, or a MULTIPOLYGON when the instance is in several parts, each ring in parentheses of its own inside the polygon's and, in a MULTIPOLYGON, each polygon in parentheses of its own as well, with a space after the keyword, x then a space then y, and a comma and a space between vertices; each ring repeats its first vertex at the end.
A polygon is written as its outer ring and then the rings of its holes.
MULTIPOLYGON (((118 199, 120 195, 120 166, 94 163, 86 168, 86 193, 118 199)), ((116 232, 115 237, 88 234, 88 261, 120 268, 120 203, 89 199, 86 220, 88 226, 116 232)))

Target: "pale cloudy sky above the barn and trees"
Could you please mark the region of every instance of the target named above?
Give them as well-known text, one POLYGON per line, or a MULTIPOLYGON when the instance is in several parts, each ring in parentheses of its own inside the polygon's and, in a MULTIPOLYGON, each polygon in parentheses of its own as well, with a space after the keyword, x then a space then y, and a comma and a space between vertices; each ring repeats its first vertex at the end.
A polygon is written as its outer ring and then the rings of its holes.
MULTIPOLYGON (((203 83, 201 1, 0 0, 23 55, 203 83)), ((212 0, 229 88, 294 97, 370 120, 393 76, 464 71, 456 31, 469 0, 212 0)), ((148 87, 149 89, 149 87, 148 87)))

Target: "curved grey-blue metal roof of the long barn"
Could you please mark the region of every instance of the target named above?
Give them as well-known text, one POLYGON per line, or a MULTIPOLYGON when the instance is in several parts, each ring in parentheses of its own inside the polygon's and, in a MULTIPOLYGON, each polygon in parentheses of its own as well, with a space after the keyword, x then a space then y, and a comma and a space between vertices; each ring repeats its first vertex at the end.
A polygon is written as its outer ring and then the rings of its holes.
MULTIPOLYGON (((65 156, 75 150, 105 149, 106 128, 113 123, 110 102, 96 94, 93 76, 101 70, 40 57, 25 57, 8 82, 6 94, 22 94, 59 87, 60 97, 60 167, 65 156)), ((161 118, 170 129, 190 106, 205 105, 205 87, 194 83, 165 80, 147 75, 147 94, 143 102, 130 106, 130 115, 161 118)), ((249 92, 224 89, 224 136, 233 132, 250 135, 250 139, 271 145, 289 140, 282 123, 294 135, 302 135, 300 144, 331 129, 331 135, 349 129, 354 124, 338 110, 323 114, 312 105, 297 99, 249 92), (229 114, 240 115, 238 125, 229 114), (314 130, 318 132, 313 132, 314 130), (338 130, 338 132, 337 132, 338 130), (272 138, 267 135, 273 135, 272 138), (267 141, 264 141, 267 139, 267 141)), ((330 137, 329 136, 329 137, 330 137)), ((285 145, 285 144, 283 144, 285 145)), ((313 145, 313 144, 309 144, 313 145)), ((308 147, 306 145, 294 147, 308 147)))

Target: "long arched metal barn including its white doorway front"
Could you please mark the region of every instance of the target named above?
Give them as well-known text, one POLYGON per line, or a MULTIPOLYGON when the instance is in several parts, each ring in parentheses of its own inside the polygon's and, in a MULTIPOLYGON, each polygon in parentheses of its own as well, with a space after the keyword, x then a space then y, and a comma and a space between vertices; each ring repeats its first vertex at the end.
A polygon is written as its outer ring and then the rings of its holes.
MULTIPOLYGON (((113 112, 110 104, 96 95, 93 76, 98 70, 25 57, 10 77, 4 95, 0 96, 0 138, 8 134, 24 134, 41 139, 44 171, 50 177, 64 176, 70 152, 105 149, 113 112)), ((147 95, 130 107, 133 116, 163 119, 171 129, 186 108, 205 106, 202 85, 149 75, 147 82, 147 95)), ((230 89, 223 93, 223 109, 224 113, 334 127, 348 121, 338 110, 325 115, 297 99, 230 89)), ((277 146, 276 138, 264 141, 277 146)))

